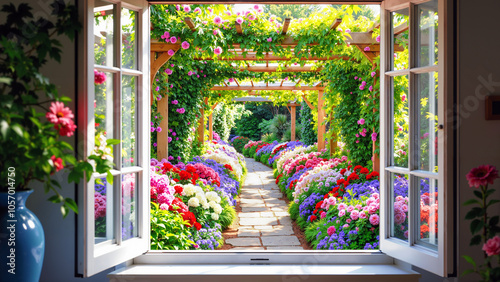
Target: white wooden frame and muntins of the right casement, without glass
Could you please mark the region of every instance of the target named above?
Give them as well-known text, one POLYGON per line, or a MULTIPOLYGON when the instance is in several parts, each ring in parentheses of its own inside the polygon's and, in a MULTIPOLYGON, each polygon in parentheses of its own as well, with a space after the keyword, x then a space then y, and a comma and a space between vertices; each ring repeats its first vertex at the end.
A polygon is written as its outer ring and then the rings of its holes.
MULTIPOLYGON (((453 273, 453 189, 452 189, 452 171, 453 171, 453 163, 451 155, 452 151, 452 128, 453 128, 453 115, 449 113, 453 113, 452 110, 452 91, 450 91, 450 81, 445 80, 446 76, 450 76, 452 74, 452 70, 450 69, 450 55, 445 56, 445 51, 449 51, 449 44, 451 41, 447 41, 445 38, 446 30, 445 23, 449 22, 449 17, 447 17, 447 11, 449 11, 449 2, 447 0, 438 0, 438 41, 439 41, 439 49, 438 49, 438 66, 430 66, 430 67, 422 67, 416 68, 413 65, 413 52, 415 50, 413 42, 415 42, 414 38, 416 35, 417 23, 415 20, 415 7, 420 3, 428 2, 428 0, 407 0, 407 1, 391 1, 386 0, 382 3, 381 6, 381 38, 380 42, 380 50, 381 50, 381 59, 380 59, 380 162, 381 162, 381 172, 380 172, 380 191, 381 191, 381 203, 380 203, 380 215, 382 221, 380 223, 380 249, 382 252, 387 255, 394 257, 396 259, 402 260, 404 262, 410 263, 432 273, 435 273, 440 276, 448 276, 449 273, 453 273), (394 4, 395 3, 395 4, 394 4), (409 70, 406 71, 392 71, 391 72, 391 35, 392 35, 392 21, 391 21, 391 12, 409 8, 409 70), (438 71, 438 124, 443 125, 444 128, 442 130, 438 130, 438 247, 437 251, 431 250, 429 248, 423 247, 421 245, 417 245, 416 241, 416 232, 415 229, 419 228, 419 221, 417 221, 417 217, 419 214, 419 199, 412 197, 411 195, 416 195, 416 192, 411 189, 408 191, 410 195, 410 203, 409 203, 409 236, 408 241, 405 242, 403 240, 399 240, 397 238, 391 238, 391 210, 394 209, 391 201, 391 185, 389 181, 390 172, 392 173, 404 173, 404 174, 413 174, 417 176, 425 177, 425 173, 418 173, 418 171, 410 170, 401 170, 398 171, 396 168, 391 167, 391 155, 393 150, 392 145, 392 130, 394 127, 392 122, 392 86, 391 86, 391 77, 394 73, 398 74, 406 74, 409 77, 415 76, 420 72, 427 72, 429 70, 438 71), (446 76, 445 76, 446 75, 446 76), (446 114, 446 115, 445 115, 446 114), (411 171, 411 172, 410 172, 411 171)), ((415 93, 416 88, 412 85, 411 81, 414 81, 413 78, 410 78, 409 89, 410 91, 409 101, 411 104, 411 99, 415 99, 410 96, 411 93, 415 93), (412 88, 413 87, 413 88, 412 88)), ((411 105, 410 105, 411 106, 411 105)), ((411 110, 410 110, 411 111, 411 110)), ((412 114, 410 112, 410 122, 415 122, 414 118, 412 118, 412 114)), ((411 144, 414 141, 414 136, 411 135, 410 129, 410 149, 411 152, 408 152, 409 165, 412 166, 411 156, 415 156, 413 148, 411 144)))

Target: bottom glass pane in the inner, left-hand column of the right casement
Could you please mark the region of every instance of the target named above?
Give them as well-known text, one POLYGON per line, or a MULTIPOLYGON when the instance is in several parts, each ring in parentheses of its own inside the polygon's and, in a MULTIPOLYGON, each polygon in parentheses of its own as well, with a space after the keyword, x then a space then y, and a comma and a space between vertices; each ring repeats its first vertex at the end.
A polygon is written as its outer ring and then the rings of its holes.
POLYGON ((408 175, 391 173, 392 200, 391 236, 408 241, 408 175))

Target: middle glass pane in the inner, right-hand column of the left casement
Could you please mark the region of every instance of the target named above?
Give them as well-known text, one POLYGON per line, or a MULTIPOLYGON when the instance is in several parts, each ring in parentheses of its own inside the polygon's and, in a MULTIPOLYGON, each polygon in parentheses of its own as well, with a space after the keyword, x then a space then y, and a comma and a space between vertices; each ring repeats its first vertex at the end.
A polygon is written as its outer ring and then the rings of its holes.
POLYGON ((122 77, 122 167, 137 165, 136 125, 136 89, 137 78, 122 77))

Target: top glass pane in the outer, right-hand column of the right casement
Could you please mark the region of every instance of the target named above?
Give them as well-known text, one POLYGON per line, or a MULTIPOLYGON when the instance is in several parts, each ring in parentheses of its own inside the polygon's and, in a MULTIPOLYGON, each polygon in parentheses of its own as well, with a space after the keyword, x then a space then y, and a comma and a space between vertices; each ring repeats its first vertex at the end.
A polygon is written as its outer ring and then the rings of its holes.
POLYGON ((417 19, 417 67, 437 65, 438 63, 438 0, 426 2, 415 7, 417 19))

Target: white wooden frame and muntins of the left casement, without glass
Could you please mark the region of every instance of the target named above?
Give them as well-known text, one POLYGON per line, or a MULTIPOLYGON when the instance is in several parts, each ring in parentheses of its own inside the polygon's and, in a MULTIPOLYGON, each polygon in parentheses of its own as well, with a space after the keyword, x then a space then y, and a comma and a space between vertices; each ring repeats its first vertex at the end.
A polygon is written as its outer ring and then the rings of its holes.
MULTIPOLYGON (((113 184, 113 230, 114 241, 105 241, 95 244, 94 230, 94 180, 105 177, 95 173, 90 181, 79 185, 78 205, 80 213, 78 216, 78 266, 77 273, 83 277, 92 276, 117 264, 131 260, 149 250, 149 163, 150 150, 145 144, 150 143, 149 128, 144 124, 150 123, 150 28, 149 28, 149 4, 146 0, 106 0, 110 4, 116 5, 114 14, 114 65, 96 66, 94 65, 94 0, 80 1, 79 9, 83 31, 79 35, 79 42, 82 47, 78 52, 79 73, 83 83, 78 86, 78 137, 82 157, 89 156, 94 148, 94 68, 100 71, 107 71, 113 74, 113 103, 115 104, 113 127, 114 138, 121 139, 121 92, 122 74, 136 77, 136 161, 133 167, 122 168, 121 166, 121 144, 115 146, 116 167, 111 171, 114 176, 121 176, 129 173, 136 173, 136 212, 137 212, 137 237, 121 240, 121 188, 116 183, 113 184), (136 48, 137 70, 129 70, 121 66, 121 10, 127 8, 137 12, 137 37, 136 48), (119 32, 117 32, 119 31, 119 32), (117 188, 118 187, 118 188, 117 188)), ((115 177, 115 181, 121 177, 115 177)), ((119 183, 118 183, 119 184, 119 183)), ((111 208, 108 206, 108 209, 111 208)))

